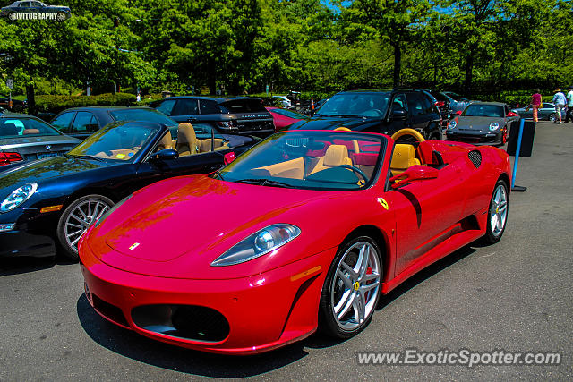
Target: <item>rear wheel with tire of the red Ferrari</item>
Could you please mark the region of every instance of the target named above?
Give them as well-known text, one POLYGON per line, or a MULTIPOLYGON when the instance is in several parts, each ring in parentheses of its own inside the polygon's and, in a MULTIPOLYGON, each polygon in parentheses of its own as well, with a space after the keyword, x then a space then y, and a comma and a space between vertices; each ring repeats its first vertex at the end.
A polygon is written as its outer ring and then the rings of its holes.
POLYGON ((495 183, 487 213, 487 228, 483 236, 483 242, 494 244, 499 242, 505 232, 508 222, 509 191, 508 184, 501 179, 495 183))

